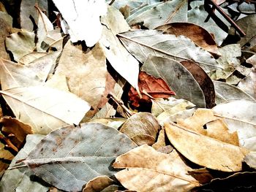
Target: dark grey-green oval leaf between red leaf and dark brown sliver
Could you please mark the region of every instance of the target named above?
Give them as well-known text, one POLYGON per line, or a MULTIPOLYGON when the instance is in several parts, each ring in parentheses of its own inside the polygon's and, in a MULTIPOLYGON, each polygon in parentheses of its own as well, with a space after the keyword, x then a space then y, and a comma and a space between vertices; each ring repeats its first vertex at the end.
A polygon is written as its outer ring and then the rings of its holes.
POLYGON ((187 99, 198 107, 206 106, 203 91, 197 81, 178 61, 151 55, 143 64, 142 71, 165 80, 176 93, 177 99, 187 99))

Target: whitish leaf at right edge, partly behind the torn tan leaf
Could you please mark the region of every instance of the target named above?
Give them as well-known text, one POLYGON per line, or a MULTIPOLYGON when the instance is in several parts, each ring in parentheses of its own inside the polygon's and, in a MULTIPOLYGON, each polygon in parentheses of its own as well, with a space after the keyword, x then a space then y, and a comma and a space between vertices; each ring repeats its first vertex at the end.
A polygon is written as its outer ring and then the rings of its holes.
POLYGON ((230 131, 238 132, 239 144, 256 151, 256 102, 246 100, 227 101, 213 109, 214 115, 224 118, 230 131))

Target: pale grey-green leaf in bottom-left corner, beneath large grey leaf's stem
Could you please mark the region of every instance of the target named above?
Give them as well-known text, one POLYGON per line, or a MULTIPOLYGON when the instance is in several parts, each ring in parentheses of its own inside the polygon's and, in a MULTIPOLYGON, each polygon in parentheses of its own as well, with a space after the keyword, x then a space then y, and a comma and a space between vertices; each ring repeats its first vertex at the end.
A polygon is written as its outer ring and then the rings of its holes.
MULTIPOLYGON (((18 160, 26 158, 43 137, 43 135, 39 134, 28 135, 26 137, 26 144, 15 156, 15 158, 13 158, 10 168, 15 167, 18 160)), ((1 178, 0 191, 15 192, 29 191, 31 189, 34 192, 48 191, 48 187, 34 180, 35 177, 33 172, 27 167, 21 167, 19 169, 7 169, 4 172, 4 176, 1 178)))

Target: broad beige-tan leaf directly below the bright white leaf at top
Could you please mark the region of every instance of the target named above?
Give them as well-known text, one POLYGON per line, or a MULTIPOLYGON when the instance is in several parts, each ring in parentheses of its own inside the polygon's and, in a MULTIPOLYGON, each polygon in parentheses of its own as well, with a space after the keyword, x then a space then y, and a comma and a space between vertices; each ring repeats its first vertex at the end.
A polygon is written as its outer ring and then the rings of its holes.
POLYGON ((69 91, 96 108, 105 91, 107 75, 106 58, 102 48, 97 44, 86 52, 82 45, 67 42, 56 74, 64 74, 69 91))

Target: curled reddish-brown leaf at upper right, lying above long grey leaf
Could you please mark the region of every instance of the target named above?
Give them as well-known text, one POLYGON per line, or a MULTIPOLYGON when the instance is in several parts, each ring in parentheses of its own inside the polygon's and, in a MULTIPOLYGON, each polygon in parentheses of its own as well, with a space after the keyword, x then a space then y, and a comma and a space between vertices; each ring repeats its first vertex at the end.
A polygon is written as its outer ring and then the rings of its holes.
POLYGON ((156 28, 165 34, 175 34, 176 37, 184 35, 210 53, 220 55, 214 37, 206 29, 193 23, 170 23, 156 28))

